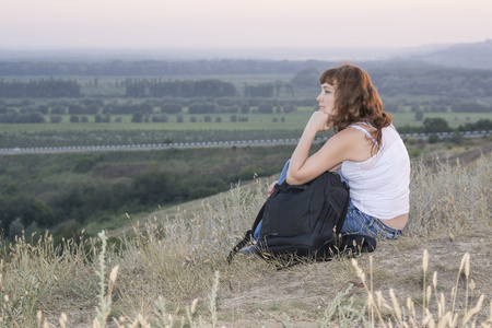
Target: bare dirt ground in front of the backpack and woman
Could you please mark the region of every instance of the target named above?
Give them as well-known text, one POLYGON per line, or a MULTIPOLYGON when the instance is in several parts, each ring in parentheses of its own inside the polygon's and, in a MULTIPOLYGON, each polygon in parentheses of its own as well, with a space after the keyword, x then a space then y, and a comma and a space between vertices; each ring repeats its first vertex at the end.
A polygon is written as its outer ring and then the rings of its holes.
MULTIPOLYGON (((487 309, 492 296, 491 233, 492 227, 488 226, 459 237, 422 239, 403 236, 396 242, 379 242, 376 251, 362 255, 359 263, 366 272, 368 283, 372 257, 373 289, 382 291, 389 304, 388 291, 393 289, 401 305, 409 296, 420 305, 423 300, 422 255, 427 249, 426 285, 432 285, 433 272, 436 271, 437 293, 443 293, 449 305, 452 289, 458 285, 456 307, 464 308, 466 277, 461 274, 458 278, 458 271, 461 258, 468 251, 471 260, 468 283, 470 285, 471 280, 475 283, 475 290, 469 289, 469 304, 475 306, 478 297, 485 294, 487 309)), ((367 293, 348 259, 298 265, 281 271, 260 258, 247 260, 250 261, 251 279, 224 281, 221 285, 219 318, 226 327, 285 327, 285 323, 293 327, 318 327, 325 309, 338 293, 349 289, 342 302, 353 302, 353 307, 359 309, 367 300, 367 293)))

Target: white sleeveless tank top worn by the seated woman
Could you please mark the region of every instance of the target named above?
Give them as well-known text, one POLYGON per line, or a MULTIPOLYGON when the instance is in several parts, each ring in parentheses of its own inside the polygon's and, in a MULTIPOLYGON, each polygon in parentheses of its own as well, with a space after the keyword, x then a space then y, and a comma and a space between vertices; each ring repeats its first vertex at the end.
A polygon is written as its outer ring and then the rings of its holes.
MULTIPOLYGON (((374 129, 365 122, 360 124, 374 129)), ((349 128, 363 131, 375 142, 364 128, 355 125, 349 128)), ((344 161, 340 173, 349 184, 353 204, 362 212, 380 220, 409 212, 410 159, 393 126, 383 128, 382 145, 374 156, 364 162, 344 161)))

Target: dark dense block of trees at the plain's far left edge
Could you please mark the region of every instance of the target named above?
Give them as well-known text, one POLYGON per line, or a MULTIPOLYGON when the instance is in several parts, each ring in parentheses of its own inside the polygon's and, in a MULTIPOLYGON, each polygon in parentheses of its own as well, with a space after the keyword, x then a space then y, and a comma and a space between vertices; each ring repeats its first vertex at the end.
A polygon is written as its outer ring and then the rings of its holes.
POLYGON ((80 97, 81 86, 77 81, 37 80, 30 82, 0 81, 0 97, 9 98, 57 98, 80 97))

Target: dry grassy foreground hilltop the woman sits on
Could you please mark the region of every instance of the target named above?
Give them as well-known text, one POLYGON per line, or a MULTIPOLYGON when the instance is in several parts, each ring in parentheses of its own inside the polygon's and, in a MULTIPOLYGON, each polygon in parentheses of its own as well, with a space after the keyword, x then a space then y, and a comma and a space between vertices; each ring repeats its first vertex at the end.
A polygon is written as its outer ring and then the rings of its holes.
POLYGON ((491 327, 491 163, 414 164, 406 234, 352 261, 226 265, 268 180, 115 245, 19 238, 0 254, 0 327, 491 327))

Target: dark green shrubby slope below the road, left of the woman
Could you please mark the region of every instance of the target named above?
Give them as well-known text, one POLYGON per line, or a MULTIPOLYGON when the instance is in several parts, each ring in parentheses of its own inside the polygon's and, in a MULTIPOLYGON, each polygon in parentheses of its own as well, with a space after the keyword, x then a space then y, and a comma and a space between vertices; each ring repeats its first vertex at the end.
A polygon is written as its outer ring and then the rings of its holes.
POLYGON ((0 231, 13 241, 49 229, 57 239, 200 199, 282 169, 294 145, 1 156, 0 231))

